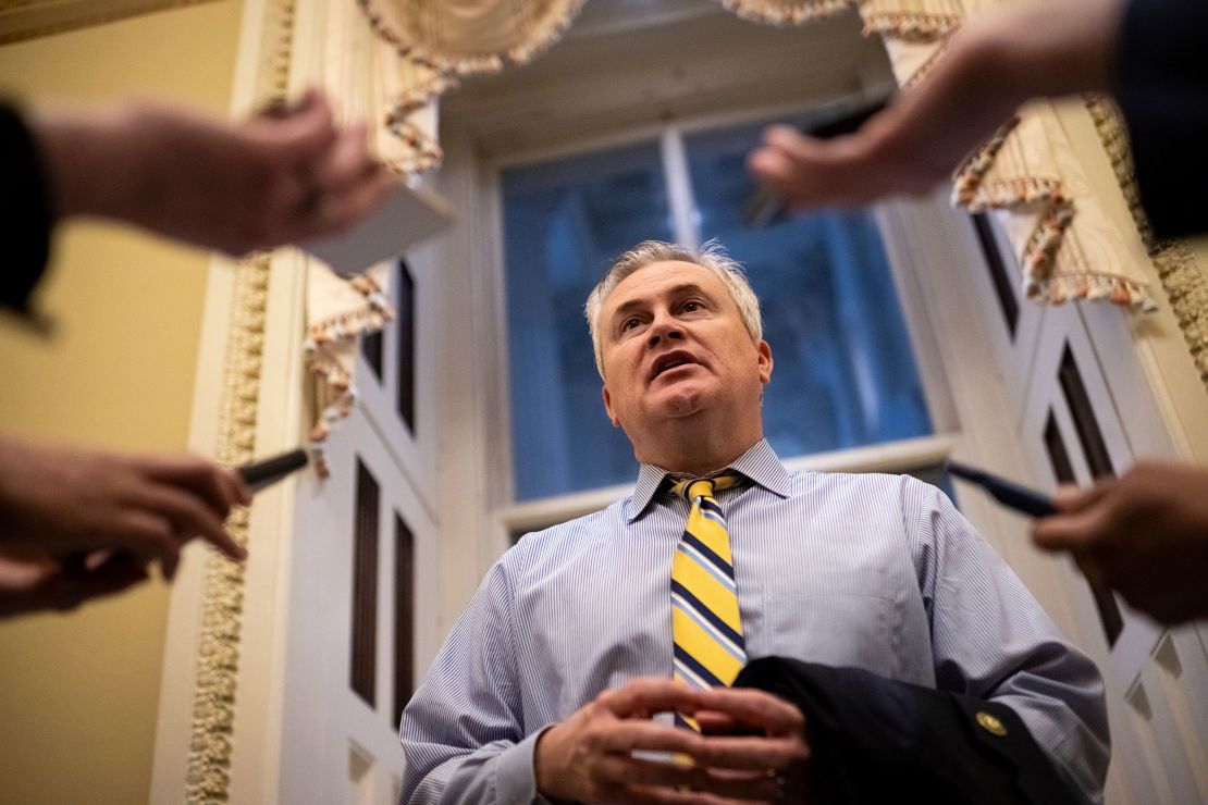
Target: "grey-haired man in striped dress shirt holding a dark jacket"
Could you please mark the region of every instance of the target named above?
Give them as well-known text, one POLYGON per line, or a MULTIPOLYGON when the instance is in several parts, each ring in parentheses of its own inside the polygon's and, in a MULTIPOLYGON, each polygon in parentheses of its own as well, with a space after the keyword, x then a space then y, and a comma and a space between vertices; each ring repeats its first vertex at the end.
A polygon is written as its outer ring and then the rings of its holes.
POLYGON ((910 477, 790 473, 763 439, 772 350, 736 264, 640 244, 587 320, 637 488, 487 574, 403 712, 402 803, 1099 799, 1100 677, 952 503, 910 477), (727 469, 751 661, 747 687, 702 690, 670 678, 690 503, 669 486, 727 469))

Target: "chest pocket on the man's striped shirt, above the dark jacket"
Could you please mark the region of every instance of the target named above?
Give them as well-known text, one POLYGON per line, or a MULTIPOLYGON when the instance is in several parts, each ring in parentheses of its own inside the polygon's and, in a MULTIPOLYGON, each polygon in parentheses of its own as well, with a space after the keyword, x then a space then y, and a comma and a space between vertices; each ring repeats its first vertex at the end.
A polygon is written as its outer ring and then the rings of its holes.
POLYGON ((887 573, 872 568, 813 573, 792 589, 769 593, 765 601, 767 651, 761 655, 894 675, 894 600, 887 573))

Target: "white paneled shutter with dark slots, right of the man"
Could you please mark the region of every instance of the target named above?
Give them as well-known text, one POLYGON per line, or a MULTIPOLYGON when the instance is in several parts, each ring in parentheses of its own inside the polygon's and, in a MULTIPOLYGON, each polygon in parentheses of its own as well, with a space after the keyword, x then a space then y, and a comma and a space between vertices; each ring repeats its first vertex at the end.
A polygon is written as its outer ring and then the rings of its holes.
MULTIPOLYGON (((1038 344, 1021 439, 1041 486, 1086 485, 1138 459, 1173 455, 1151 422, 1120 415, 1126 406, 1136 415, 1148 385, 1121 377, 1109 385, 1078 308, 1046 311, 1038 344)), ((1113 354, 1108 366, 1127 375, 1129 357, 1113 354)), ((1151 402, 1150 412, 1156 419, 1151 402)), ((1071 564, 1067 578, 1082 646, 1107 682, 1114 772, 1129 801, 1208 801, 1208 663, 1196 628, 1161 629, 1119 596, 1092 590, 1071 564)))

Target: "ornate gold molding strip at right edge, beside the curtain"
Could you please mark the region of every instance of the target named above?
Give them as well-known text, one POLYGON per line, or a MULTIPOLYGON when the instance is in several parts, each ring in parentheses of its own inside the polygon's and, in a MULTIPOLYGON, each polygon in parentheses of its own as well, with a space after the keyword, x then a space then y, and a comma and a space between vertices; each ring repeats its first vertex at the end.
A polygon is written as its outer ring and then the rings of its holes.
POLYGON ((1154 237, 1140 203, 1132 151, 1128 147, 1128 129, 1125 127, 1120 109, 1102 95, 1088 97, 1086 107, 1116 171, 1116 181, 1123 191, 1137 232, 1171 301, 1179 329, 1183 331, 1183 339, 1200 372, 1200 380, 1204 391, 1208 391, 1208 274, 1187 241, 1157 240, 1154 237))

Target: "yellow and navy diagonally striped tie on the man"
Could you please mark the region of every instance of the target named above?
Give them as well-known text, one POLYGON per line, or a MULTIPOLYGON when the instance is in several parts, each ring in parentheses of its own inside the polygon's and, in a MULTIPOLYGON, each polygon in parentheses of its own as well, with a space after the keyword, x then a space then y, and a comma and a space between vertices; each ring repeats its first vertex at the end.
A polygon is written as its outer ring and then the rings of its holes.
MULTIPOLYGON (((687 478, 672 486, 692 506, 672 560, 672 637, 675 678, 693 688, 730 686, 747 664, 730 533, 713 497, 742 479, 730 473, 687 478)), ((675 723, 697 729, 695 721, 679 713, 675 723)))

